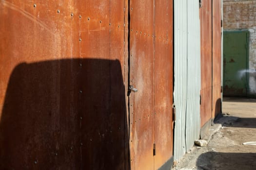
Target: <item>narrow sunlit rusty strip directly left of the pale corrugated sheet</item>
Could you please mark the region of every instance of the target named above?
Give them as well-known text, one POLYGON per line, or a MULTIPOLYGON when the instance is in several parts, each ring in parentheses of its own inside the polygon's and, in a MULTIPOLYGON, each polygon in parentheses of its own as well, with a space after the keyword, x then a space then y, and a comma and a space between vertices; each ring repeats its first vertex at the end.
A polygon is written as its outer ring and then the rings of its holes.
POLYGON ((173 155, 173 2, 155 2, 155 170, 173 155))

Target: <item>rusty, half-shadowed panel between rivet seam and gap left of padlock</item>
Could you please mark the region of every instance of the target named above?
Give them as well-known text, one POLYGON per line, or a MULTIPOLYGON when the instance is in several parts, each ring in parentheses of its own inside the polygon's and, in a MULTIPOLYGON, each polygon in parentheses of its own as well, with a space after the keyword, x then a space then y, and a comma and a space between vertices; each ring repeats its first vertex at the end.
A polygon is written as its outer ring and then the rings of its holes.
POLYGON ((82 39, 80 58, 116 60, 109 62, 108 67, 100 62, 82 63, 84 75, 80 97, 81 101, 90 101, 81 103, 81 117, 85 118, 81 119, 81 139, 85 143, 81 156, 85 160, 82 164, 86 169, 125 169, 124 163, 129 161, 124 143, 124 138, 128 139, 124 133, 128 129, 123 112, 124 72, 118 68, 120 63, 124 64, 124 5, 123 0, 94 0, 80 5, 84 16, 79 33, 82 39), (101 68, 102 72, 94 70, 94 67, 101 68), (106 73, 107 76, 104 76, 106 73), (102 79, 88 84, 88 81, 95 80, 94 77, 102 79), (104 123, 95 128, 98 120, 104 123), (82 128, 83 125, 86 125, 85 128, 82 128))

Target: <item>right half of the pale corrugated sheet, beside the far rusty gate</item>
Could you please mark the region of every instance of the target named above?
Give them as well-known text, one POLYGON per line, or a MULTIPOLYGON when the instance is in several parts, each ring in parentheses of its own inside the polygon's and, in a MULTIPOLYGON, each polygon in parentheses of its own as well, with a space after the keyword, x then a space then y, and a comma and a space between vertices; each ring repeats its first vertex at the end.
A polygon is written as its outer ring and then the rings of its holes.
POLYGON ((198 0, 188 0, 187 48, 186 148, 189 150, 200 133, 201 64, 198 0))

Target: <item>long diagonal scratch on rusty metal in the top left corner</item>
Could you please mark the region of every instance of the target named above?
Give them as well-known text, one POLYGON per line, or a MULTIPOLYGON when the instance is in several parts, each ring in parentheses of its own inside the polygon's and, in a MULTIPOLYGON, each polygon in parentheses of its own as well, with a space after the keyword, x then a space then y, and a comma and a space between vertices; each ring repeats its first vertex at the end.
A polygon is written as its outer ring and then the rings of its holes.
POLYGON ((42 22, 38 18, 34 17, 30 13, 28 13, 27 11, 21 9, 19 6, 15 5, 11 2, 5 1, 5 0, 1 0, 1 5, 19 12, 21 15, 23 15, 24 17, 27 17, 31 21, 37 23, 40 27, 44 28, 45 30, 47 30, 51 34, 54 34, 53 31, 51 31, 44 22, 42 22))

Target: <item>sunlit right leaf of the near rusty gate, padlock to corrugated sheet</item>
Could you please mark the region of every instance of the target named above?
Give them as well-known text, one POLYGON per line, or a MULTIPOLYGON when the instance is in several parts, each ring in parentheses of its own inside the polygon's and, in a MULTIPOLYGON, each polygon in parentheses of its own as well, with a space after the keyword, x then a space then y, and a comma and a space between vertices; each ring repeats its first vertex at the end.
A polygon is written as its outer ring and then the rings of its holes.
POLYGON ((130 0, 132 170, 156 170, 173 155, 172 16, 170 0, 130 0))

